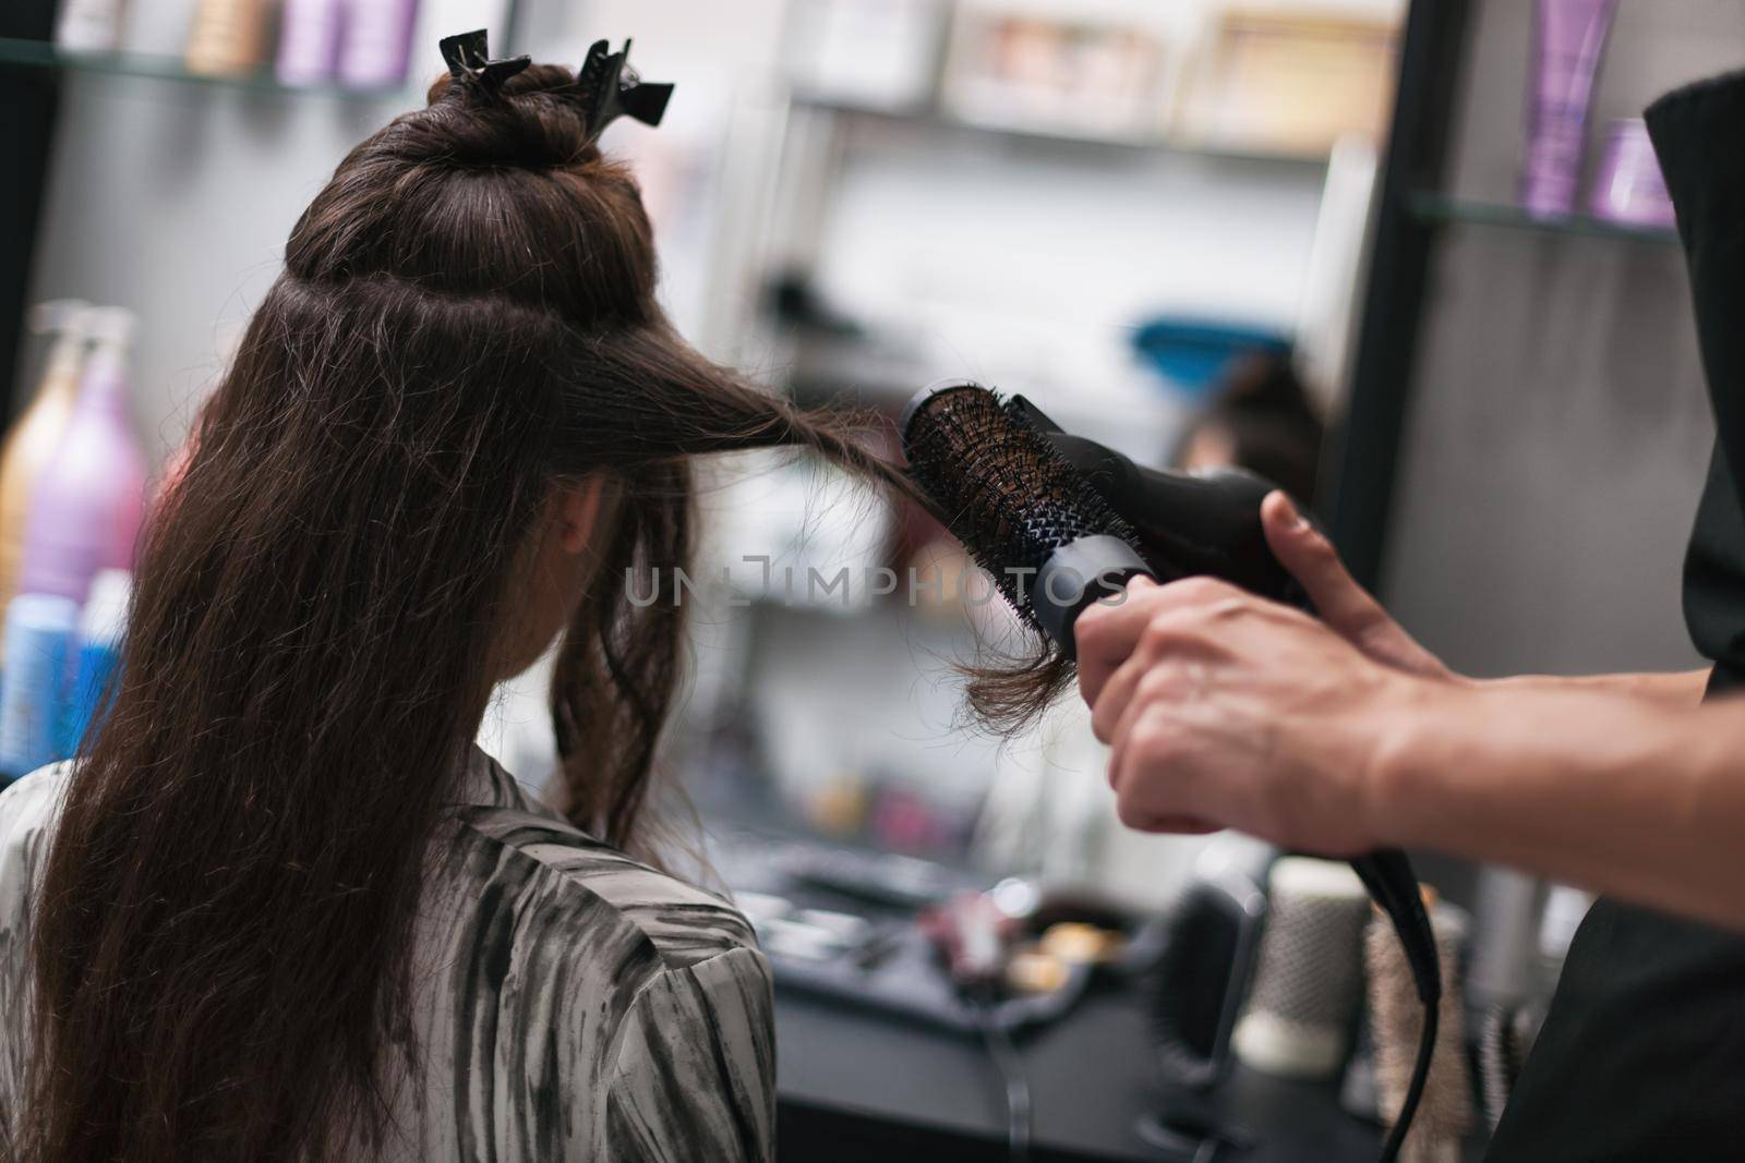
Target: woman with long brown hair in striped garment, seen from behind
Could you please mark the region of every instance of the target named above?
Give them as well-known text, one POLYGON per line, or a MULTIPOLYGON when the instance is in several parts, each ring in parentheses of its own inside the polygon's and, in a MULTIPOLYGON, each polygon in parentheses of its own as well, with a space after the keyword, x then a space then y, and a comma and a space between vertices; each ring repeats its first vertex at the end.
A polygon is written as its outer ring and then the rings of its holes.
POLYGON ((902 483, 670 330, 588 85, 520 65, 440 80, 297 223, 105 725, 0 797, 7 1158, 773 1153, 750 929, 626 854, 681 670, 647 577, 701 453, 902 483), (471 741, 560 633, 546 807, 471 741))

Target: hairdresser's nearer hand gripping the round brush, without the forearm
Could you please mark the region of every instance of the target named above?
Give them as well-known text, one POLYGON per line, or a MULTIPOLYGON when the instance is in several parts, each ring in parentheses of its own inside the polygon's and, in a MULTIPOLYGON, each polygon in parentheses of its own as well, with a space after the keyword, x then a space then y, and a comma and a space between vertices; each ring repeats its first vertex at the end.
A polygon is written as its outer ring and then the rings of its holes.
POLYGON ((1211 579, 1134 581, 1073 635, 1127 826, 1239 828, 1331 856, 1387 842, 1373 772, 1429 680, 1211 579))

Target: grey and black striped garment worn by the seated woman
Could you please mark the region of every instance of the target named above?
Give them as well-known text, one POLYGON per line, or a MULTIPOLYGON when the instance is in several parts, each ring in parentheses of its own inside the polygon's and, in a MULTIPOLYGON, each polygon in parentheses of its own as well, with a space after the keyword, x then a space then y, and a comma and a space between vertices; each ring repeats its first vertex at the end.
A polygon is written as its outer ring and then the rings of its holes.
MULTIPOLYGON (((17 1109, 31 894, 65 781, 56 765, 0 793, 0 1111, 17 1109)), ((393 1050, 398 1116, 347 1154, 775 1158, 770 968, 745 917, 578 832, 476 748, 464 788, 417 928, 421 1065, 393 1050)))

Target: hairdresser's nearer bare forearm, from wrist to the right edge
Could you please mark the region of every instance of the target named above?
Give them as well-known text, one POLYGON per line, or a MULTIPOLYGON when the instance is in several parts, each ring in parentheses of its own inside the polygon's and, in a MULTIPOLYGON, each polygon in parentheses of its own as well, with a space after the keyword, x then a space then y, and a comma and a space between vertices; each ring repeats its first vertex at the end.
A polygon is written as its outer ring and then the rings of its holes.
POLYGON ((1426 687, 1373 774, 1387 842, 1745 928, 1745 701, 1426 687))

